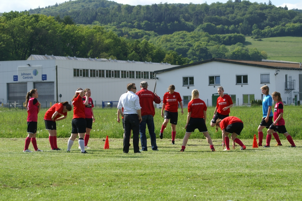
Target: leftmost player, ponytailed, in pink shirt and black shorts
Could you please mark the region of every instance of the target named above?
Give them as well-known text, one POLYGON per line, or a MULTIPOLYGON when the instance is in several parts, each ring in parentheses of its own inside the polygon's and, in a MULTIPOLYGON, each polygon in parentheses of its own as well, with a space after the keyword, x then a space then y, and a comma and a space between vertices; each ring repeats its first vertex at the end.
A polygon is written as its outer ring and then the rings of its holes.
POLYGON ((32 143, 35 151, 43 151, 38 149, 37 146, 37 121, 38 121, 38 113, 41 109, 41 104, 37 100, 38 98, 37 89, 32 89, 30 92, 27 92, 25 105, 27 109, 27 138, 25 139, 25 146, 23 152, 32 152, 28 149, 29 144, 32 143))

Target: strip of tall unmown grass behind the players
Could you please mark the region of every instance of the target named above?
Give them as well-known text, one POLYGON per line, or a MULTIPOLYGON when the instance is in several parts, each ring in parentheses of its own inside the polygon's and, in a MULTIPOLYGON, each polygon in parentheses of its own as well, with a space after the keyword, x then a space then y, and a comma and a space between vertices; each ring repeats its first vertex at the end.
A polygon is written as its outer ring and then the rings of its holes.
MULTIPOLYGON (((180 111, 180 110, 178 110, 180 111)), ((176 138, 182 139, 185 135, 185 124, 187 121, 187 109, 184 109, 185 114, 178 114, 178 125, 176 126, 176 138)), ((45 130, 44 114, 46 109, 41 109, 38 114, 38 132, 37 137, 48 138, 48 131, 45 130)), ((122 138, 123 128, 121 123, 117 123, 117 109, 102 109, 94 108, 96 122, 92 126, 91 138, 104 138, 107 135, 109 138, 122 138)), ((207 128, 212 138, 221 138, 221 131, 215 132, 215 128, 210 127, 210 120, 213 117, 214 107, 209 107, 207 110, 207 128)), ((27 111, 22 109, 8 110, 7 108, 0 109, 0 137, 5 138, 25 138, 27 136, 27 111)), ((262 119, 262 107, 232 107, 230 116, 239 117, 244 123, 244 129, 240 135, 241 139, 252 139, 254 134, 258 134, 257 128, 262 119)), ((70 137, 71 132, 72 111, 68 113, 67 118, 57 122, 58 137, 70 137)), ((284 106, 284 120, 286 128, 294 139, 302 139, 302 107, 297 106, 284 106)), ((159 138, 159 131, 163 122, 160 116, 160 109, 156 109, 154 116, 155 133, 159 138)), ((266 129, 263 130, 266 132, 266 129)), ((147 131, 147 136, 148 136, 147 131)), ((165 138, 171 138, 170 124, 164 131, 165 138)), ((280 135, 281 139, 285 139, 280 135)), ((202 133, 195 130, 191 134, 192 138, 204 139, 202 133)))

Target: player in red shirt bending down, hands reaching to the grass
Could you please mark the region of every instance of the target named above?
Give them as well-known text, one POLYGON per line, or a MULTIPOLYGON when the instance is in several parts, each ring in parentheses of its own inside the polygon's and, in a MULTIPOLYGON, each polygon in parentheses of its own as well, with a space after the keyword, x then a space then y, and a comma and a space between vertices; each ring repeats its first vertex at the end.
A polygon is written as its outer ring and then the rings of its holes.
POLYGON ((239 118, 226 117, 223 120, 217 119, 216 132, 218 131, 218 127, 222 130, 222 148, 224 149, 224 146, 226 146, 226 149, 223 151, 230 150, 230 133, 232 133, 233 149, 236 148, 235 142, 240 145, 240 150, 246 149, 246 146, 237 138, 243 129, 243 122, 239 118))

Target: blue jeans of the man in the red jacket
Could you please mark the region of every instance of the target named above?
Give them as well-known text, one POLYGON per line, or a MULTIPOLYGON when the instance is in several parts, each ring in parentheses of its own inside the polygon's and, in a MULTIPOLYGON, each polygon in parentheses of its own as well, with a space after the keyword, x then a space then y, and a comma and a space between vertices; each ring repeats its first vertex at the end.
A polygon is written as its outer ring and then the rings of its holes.
POLYGON ((148 126, 151 148, 152 150, 157 150, 156 145, 156 135, 154 132, 154 121, 152 115, 142 116, 142 121, 140 122, 140 143, 142 144, 142 150, 147 151, 147 137, 146 137, 146 124, 148 126))

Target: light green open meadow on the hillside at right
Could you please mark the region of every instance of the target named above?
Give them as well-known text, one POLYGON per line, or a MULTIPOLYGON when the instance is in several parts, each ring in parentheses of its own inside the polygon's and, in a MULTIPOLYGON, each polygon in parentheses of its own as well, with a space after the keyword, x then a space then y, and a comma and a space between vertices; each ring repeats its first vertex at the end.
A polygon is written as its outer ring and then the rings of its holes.
POLYGON ((266 51, 270 60, 302 62, 302 37, 262 38, 262 41, 246 37, 244 45, 266 51))

